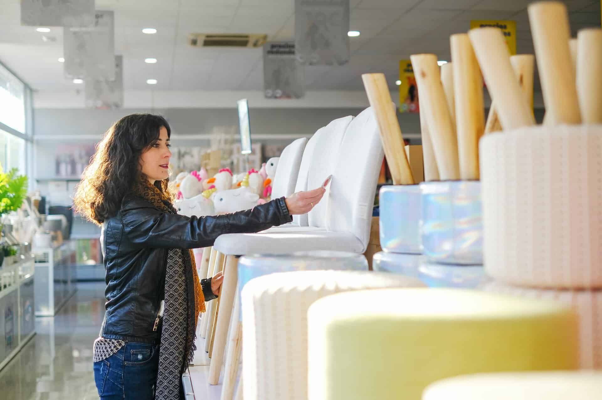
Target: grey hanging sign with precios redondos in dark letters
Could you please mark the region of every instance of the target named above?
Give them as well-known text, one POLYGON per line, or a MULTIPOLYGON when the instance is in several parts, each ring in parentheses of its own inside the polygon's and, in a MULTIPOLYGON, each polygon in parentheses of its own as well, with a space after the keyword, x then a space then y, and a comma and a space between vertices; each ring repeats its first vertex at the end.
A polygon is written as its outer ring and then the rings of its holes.
POLYGON ((303 67, 295 57, 294 42, 264 46, 264 94, 268 99, 299 99, 305 94, 303 67))

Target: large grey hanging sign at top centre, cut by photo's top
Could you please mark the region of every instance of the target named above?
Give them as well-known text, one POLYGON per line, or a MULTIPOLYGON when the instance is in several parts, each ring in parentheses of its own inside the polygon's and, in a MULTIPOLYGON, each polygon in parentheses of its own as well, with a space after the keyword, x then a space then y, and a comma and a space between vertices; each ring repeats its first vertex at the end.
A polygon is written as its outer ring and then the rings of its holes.
POLYGON ((295 0, 295 46, 299 63, 347 63, 347 32, 349 0, 295 0))

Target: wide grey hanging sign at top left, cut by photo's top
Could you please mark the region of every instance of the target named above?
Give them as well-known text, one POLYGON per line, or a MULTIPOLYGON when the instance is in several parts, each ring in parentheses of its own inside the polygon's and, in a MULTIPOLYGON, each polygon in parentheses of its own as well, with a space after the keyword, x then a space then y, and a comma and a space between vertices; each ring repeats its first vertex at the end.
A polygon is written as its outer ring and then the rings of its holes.
POLYGON ((21 0, 21 25, 90 26, 95 0, 21 0))

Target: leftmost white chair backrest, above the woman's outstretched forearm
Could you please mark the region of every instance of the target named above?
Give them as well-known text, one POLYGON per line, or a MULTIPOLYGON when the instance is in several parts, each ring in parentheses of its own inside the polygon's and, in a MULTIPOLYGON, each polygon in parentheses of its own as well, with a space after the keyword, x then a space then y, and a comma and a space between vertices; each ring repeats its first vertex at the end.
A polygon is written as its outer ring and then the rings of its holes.
POLYGON ((272 186, 272 198, 288 197, 294 193, 306 143, 307 138, 300 138, 282 150, 272 186))

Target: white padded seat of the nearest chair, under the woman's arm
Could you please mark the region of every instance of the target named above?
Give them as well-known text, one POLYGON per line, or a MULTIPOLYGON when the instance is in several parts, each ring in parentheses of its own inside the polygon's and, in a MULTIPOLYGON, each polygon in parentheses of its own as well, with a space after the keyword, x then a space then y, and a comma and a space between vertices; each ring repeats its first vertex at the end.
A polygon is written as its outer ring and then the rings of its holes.
POLYGON ((364 253, 362 242, 349 232, 229 233, 217 238, 213 247, 226 256, 249 254, 287 254, 296 251, 334 250, 364 253))

